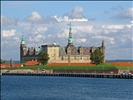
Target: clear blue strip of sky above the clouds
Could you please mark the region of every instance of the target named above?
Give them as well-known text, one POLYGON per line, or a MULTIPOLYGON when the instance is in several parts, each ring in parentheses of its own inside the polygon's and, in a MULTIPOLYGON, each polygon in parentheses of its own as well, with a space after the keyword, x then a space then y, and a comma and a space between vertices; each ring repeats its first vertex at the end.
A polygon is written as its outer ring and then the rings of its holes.
POLYGON ((47 1, 47 2, 16 2, 16 1, 6 1, 2 2, 2 14, 5 16, 11 16, 14 18, 23 19, 29 13, 33 11, 39 12, 43 16, 62 16, 66 13, 70 13, 75 6, 81 6, 84 8, 84 15, 90 18, 96 18, 98 20, 108 20, 111 16, 104 15, 104 11, 109 11, 111 9, 118 10, 119 7, 123 9, 128 9, 132 7, 131 1, 121 2, 121 1, 47 1), (104 17, 103 17, 104 16, 104 17))

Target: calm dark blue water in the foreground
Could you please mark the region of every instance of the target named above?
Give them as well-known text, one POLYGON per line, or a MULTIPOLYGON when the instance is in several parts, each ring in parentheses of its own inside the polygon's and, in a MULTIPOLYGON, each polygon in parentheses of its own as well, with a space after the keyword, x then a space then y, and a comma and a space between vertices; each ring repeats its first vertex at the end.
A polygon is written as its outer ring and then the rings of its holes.
POLYGON ((133 100, 133 80, 2 76, 2 100, 133 100))

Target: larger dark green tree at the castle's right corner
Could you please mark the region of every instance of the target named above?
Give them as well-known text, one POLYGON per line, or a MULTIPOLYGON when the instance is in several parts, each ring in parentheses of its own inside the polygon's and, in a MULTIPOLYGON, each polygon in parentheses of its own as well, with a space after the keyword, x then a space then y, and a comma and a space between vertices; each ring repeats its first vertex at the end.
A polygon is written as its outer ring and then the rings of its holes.
POLYGON ((93 53, 91 53, 90 59, 96 65, 101 64, 104 62, 104 54, 99 49, 96 49, 93 53))

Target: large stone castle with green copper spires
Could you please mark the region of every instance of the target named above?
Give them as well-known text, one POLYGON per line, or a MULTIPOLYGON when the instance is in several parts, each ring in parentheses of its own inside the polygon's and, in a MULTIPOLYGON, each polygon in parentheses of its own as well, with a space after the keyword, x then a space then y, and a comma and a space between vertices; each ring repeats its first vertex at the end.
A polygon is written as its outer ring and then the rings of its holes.
POLYGON ((39 48, 29 47, 27 50, 27 46, 24 40, 24 36, 22 36, 21 44, 20 44, 20 61, 26 62, 29 60, 38 60, 39 55, 42 52, 46 52, 49 55, 48 63, 52 62, 63 62, 63 63, 87 63, 91 62, 90 54, 94 52, 96 49, 100 49, 105 56, 105 45, 104 41, 102 41, 102 45, 100 47, 75 47, 73 43, 72 37, 72 28, 71 24, 69 27, 69 38, 68 45, 65 47, 61 47, 57 44, 52 45, 42 45, 39 48))

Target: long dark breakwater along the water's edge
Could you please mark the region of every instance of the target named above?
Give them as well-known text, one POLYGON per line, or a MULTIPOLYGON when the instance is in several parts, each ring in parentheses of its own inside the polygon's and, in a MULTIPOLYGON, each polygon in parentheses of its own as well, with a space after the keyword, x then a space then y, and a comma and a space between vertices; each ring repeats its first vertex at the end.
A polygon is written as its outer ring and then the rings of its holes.
POLYGON ((61 77, 92 77, 92 78, 120 78, 120 79, 133 79, 133 75, 119 75, 119 74, 46 74, 46 73, 2 73, 2 75, 17 75, 17 76, 61 76, 61 77))

